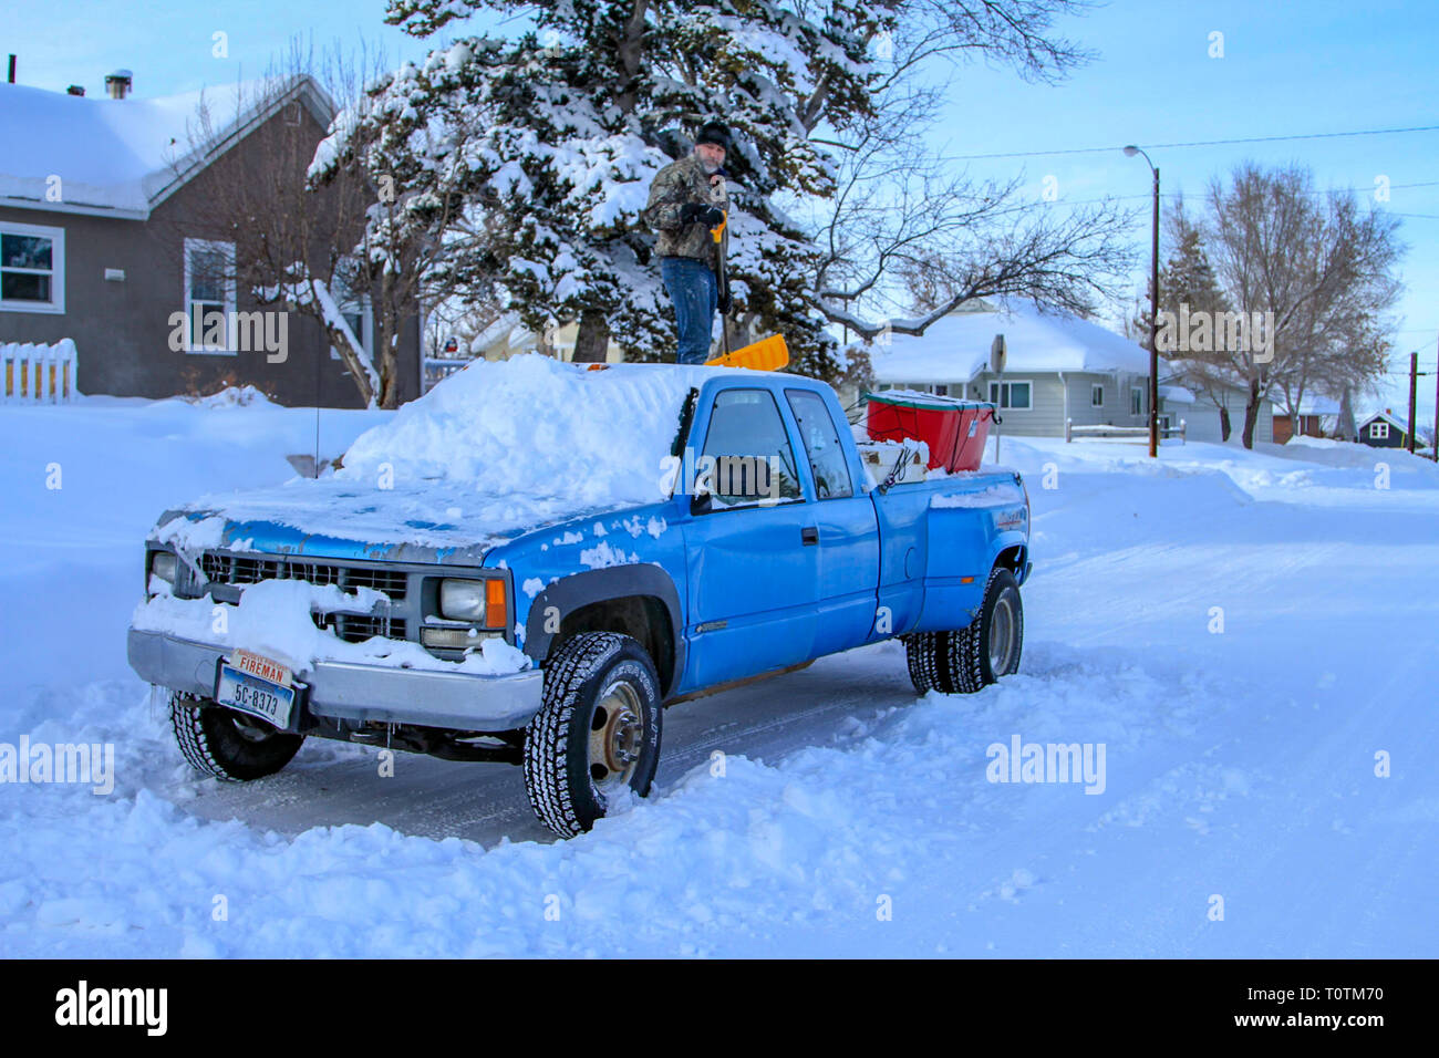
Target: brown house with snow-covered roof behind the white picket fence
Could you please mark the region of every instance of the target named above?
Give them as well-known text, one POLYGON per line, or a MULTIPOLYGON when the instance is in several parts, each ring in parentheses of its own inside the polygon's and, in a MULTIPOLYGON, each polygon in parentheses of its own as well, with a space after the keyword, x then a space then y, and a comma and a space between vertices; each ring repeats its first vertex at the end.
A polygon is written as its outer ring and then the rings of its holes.
MULTIPOLYGON (((140 98, 132 86, 128 71, 106 78, 99 96, 0 83, 0 347, 71 340, 86 394, 252 384, 286 404, 357 404, 354 381, 309 317, 286 315, 283 357, 243 348, 233 328, 213 340, 204 327, 217 312, 283 311, 236 288, 245 233, 207 230, 207 202, 235 186, 227 181, 273 173, 278 158, 308 161, 334 117, 330 98, 309 78, 165 98, 140 98)), ((368 292, 341 298, 368 348, 368 292)), ((416 312, 399 350, 401 400, 419 396, 419 341, 416 312)))

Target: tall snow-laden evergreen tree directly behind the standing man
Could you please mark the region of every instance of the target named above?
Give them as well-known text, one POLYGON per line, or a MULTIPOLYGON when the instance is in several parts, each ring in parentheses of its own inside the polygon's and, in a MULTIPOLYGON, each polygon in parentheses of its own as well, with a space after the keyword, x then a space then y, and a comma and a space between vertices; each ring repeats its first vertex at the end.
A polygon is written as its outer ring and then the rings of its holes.
MULTIPOLYGON (((446 262, 492 276, 524 322, 580 322, 577 358, 613 337, 637 358, 672 354, 669 299, 639 220, 650 180, 688 153, 704 121, 732 134, 728 269, 735 315, 783 333, 800 370, 836 373, 835 343, 810 297, 816 248, 784 204, 833 190, 812 143, 869 107, 869 43, 891 4, 830 0, 524 4, 517 40, 460 37, 376 83, 321 166, 366 160, 390 177, 400 217, 463 214, 476 252, 446 262)), ((391 0, 390 22, 430 36, 507 0, 391 0)), ((384 220, 377 214, 377 220, 384 220)), ((386 220, 394 223, 393 219, 386 220)))

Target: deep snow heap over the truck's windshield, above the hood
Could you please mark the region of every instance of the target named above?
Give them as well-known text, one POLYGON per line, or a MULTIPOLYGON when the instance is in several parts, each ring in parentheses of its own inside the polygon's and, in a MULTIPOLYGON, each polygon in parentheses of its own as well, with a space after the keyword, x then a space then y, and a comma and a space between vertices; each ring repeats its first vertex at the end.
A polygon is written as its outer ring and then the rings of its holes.
POLYGON ((576 510, 656 502, 685 396, 714 371, 591 371, 535 354, 479 360, 357 438, 337 476, 463 484, 486 497, 564 499, 576 510))

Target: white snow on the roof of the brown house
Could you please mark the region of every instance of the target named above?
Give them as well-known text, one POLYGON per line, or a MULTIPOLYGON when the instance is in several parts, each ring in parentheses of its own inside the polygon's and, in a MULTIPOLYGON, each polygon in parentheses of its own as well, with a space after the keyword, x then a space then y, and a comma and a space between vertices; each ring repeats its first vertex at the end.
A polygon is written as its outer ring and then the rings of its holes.
MULTIPOLYGON (((263 89, 249 81, 158 99, 111 99, 0 83, 0 202, 144 219, 194 166, 201 96, 213 130, 229 131, 259 117, 263 89)), ((305 98, 314 109, 318 91, 305 98)), ((276 94, 268 102, 273 107, 276 94)))

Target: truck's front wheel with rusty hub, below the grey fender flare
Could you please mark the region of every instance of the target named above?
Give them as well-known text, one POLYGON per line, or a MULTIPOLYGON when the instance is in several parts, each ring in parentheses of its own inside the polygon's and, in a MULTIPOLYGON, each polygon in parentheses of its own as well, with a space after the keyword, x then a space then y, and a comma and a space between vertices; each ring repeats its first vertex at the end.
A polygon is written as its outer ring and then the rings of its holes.
POLYGON ((586 632, 545 666, 525 728, 525 790, 561 838, 589 831, 626 790, 649 793, 659 764, 659 677, 635 639, 586 632))

